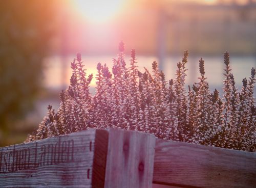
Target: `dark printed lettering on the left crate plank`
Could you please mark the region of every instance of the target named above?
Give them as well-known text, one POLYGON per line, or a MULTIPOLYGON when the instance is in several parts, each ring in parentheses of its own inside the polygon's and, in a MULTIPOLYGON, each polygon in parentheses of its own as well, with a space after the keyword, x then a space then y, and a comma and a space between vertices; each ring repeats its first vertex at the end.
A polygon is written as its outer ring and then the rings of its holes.
POLYGON ((61 141, 61 137, 59 137, 53 144, 40 144, 39 142, 34 144, 34 147, 29 148, 17 149, 15 145, 12 150, 2 148, 0 151, 0 173, 74 162, 74 140, 72 139, 61 141))

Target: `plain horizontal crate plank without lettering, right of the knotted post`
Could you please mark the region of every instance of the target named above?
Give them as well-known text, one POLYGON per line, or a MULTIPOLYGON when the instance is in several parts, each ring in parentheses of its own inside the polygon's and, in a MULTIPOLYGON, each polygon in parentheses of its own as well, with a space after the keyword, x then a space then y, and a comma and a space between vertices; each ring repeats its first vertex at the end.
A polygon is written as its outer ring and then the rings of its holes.
POLYGON ((156 140, 153 182, 181 187, 256 187, 256 153, 156 140))

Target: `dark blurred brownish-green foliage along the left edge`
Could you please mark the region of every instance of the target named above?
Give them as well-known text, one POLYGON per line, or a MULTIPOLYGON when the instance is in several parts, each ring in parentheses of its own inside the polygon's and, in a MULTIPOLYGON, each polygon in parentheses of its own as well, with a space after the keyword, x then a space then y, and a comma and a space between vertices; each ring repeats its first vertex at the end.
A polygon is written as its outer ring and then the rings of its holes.
POLYGON ((55 30, 55 3, 0 1, 0 146, 13 123, 32 109, 41 88, 42 58, 55 30))

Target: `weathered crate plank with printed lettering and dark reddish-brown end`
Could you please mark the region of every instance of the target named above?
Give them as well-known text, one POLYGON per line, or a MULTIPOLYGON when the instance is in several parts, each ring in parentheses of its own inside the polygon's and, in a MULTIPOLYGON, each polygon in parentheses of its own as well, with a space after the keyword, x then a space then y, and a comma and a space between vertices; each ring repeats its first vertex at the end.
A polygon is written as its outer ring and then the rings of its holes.
POLYGON ((95 129, 0 148, 0 187, 103 187, 107 148, 95 129))

